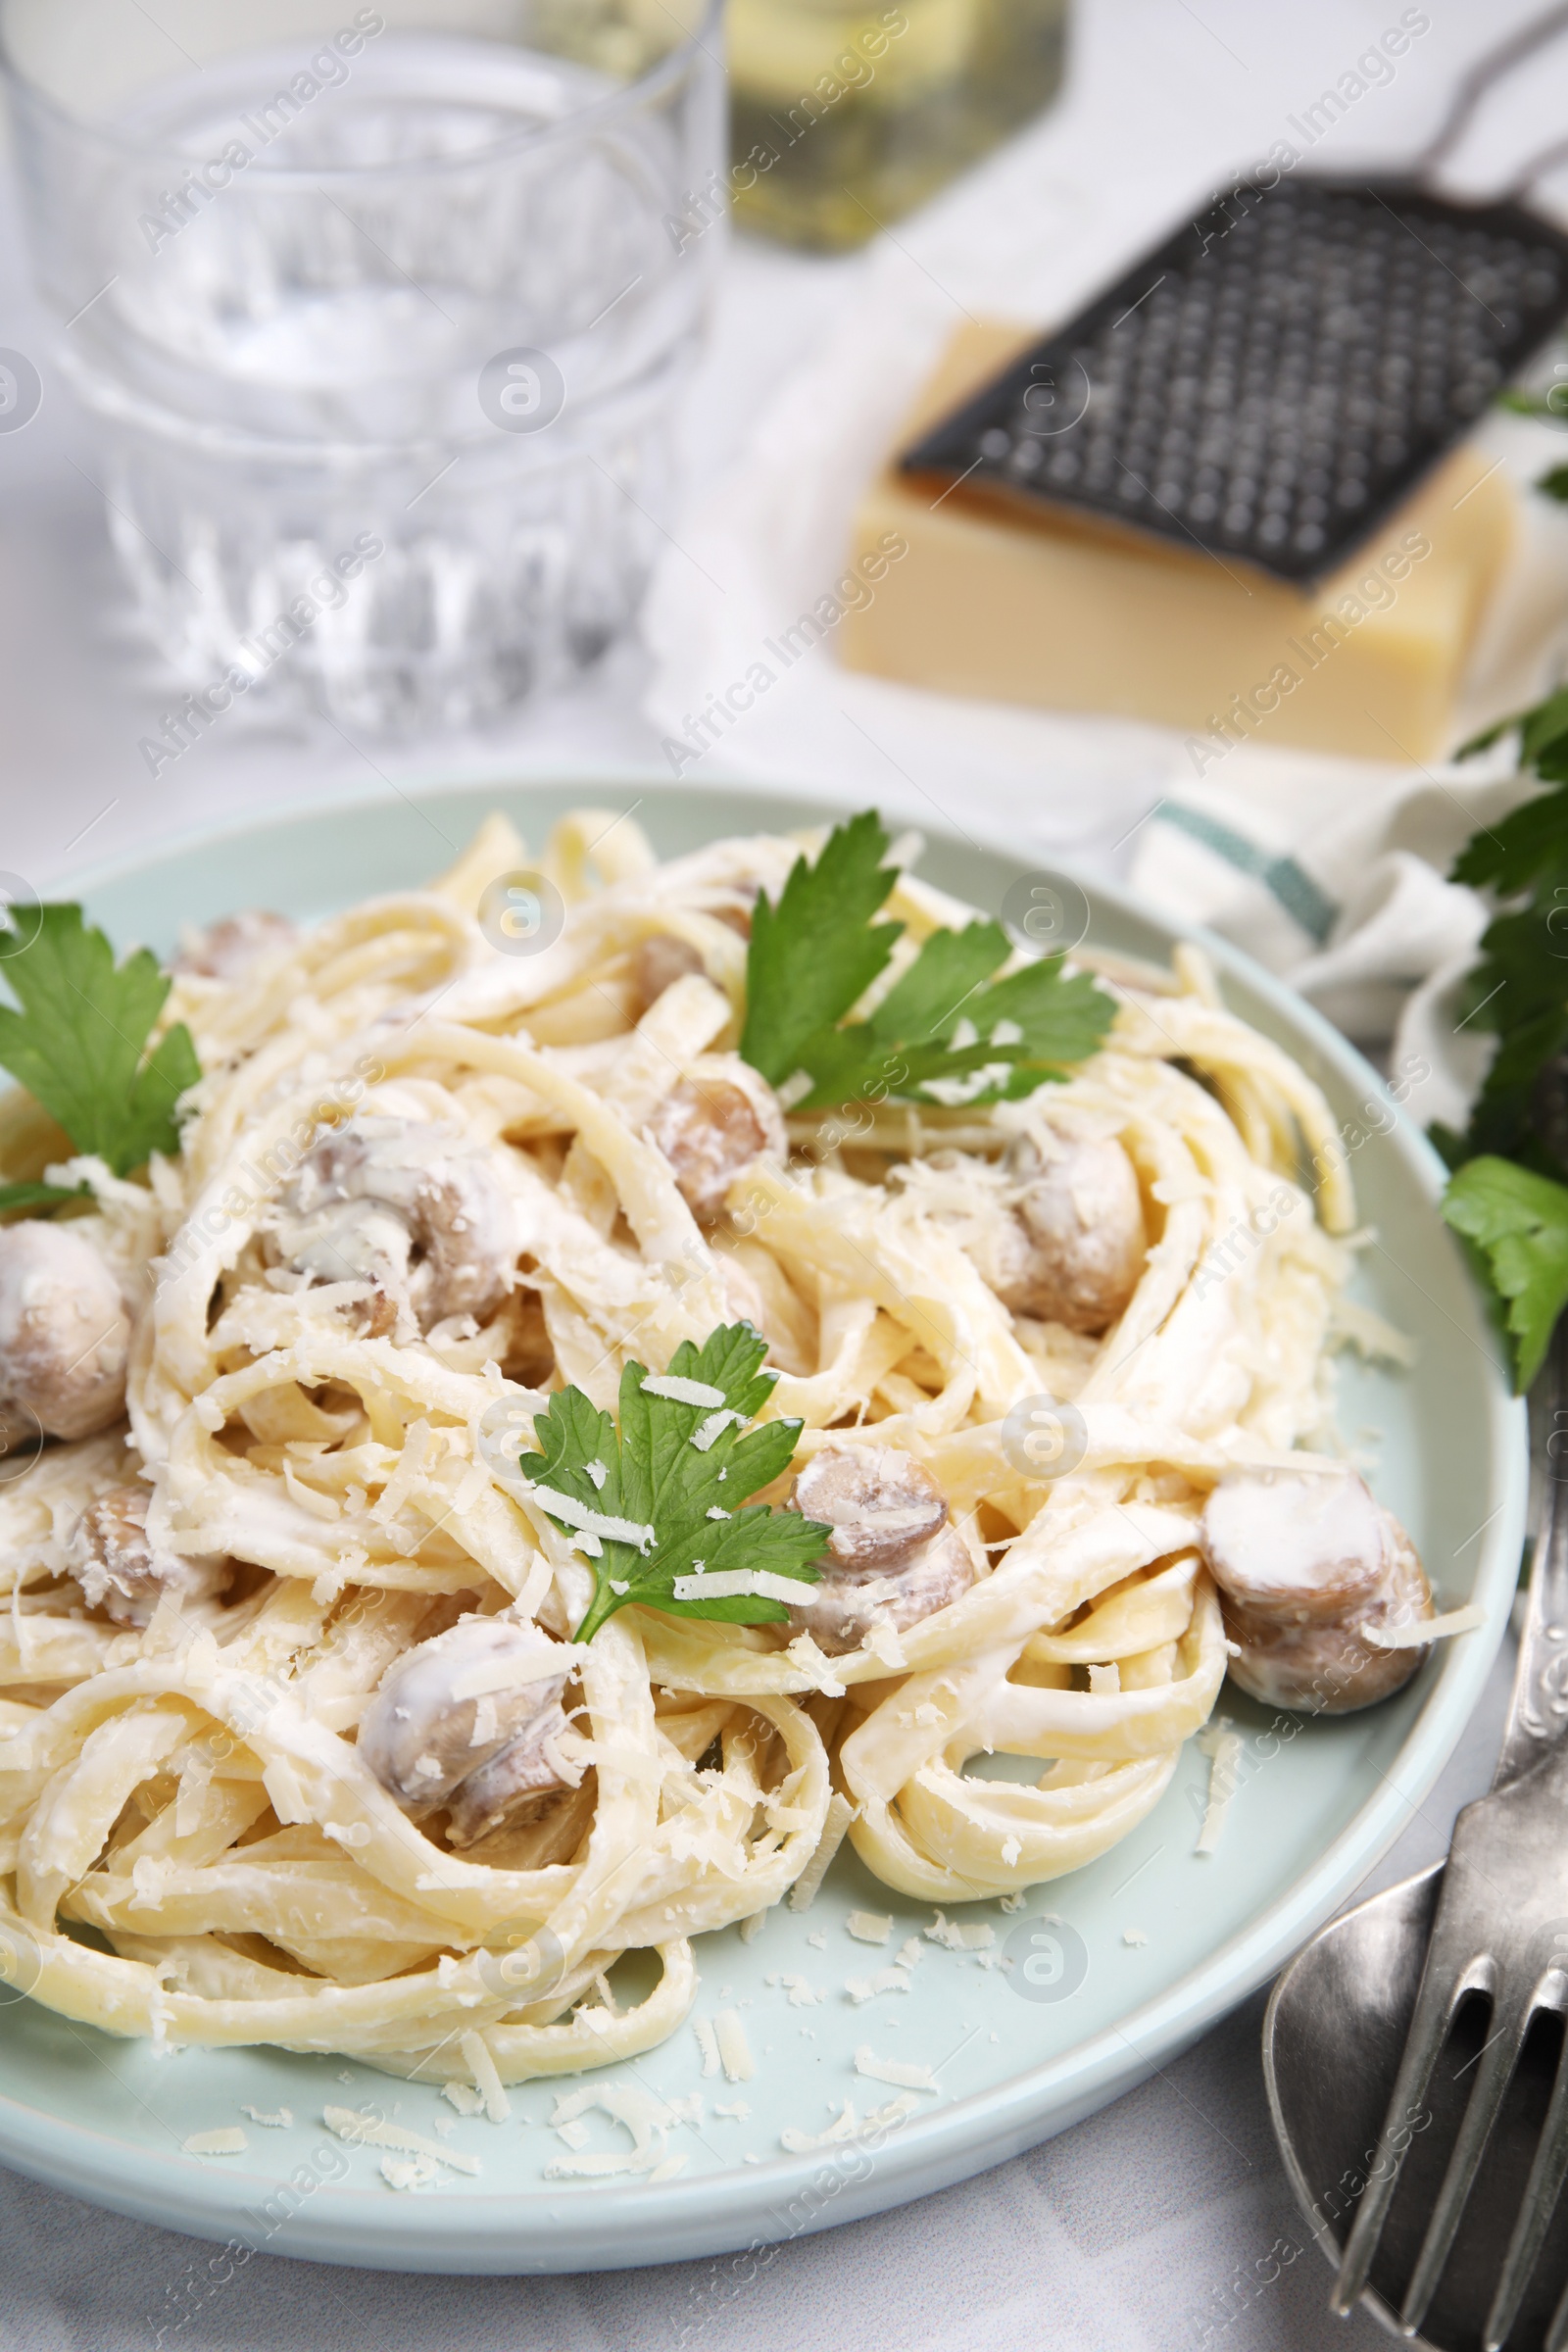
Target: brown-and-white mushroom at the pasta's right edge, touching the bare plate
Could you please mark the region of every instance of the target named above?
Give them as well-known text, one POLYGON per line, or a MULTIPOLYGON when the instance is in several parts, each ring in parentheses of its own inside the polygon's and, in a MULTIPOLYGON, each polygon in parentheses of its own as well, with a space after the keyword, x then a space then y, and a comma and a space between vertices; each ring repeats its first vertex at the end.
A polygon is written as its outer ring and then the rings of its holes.
POLYGON ((1352 1472, 1248 1470, 1208 1496, 1201 1545, 1237 1644, 1232 1679, 1272 1708, 1349 1715, 1403 1689, 1427 1646, 1368 1630, 1432 1616, 1415 1545, 1352 1472))

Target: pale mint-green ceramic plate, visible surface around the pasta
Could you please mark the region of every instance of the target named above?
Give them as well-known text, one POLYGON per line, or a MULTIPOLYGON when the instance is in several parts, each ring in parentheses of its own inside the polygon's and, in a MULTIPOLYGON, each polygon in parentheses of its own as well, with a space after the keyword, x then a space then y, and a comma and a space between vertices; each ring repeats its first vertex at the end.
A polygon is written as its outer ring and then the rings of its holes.
MULTIPOLYGON (((691 849, 741 828, 820 818, 818 802, 651 783, 477 783, 407 800, 353 802, 233 828, 183 849, 125 863, 85 882, 89 910, 118 943, 174 943, 181 922, 237 906, 320 915, 371 891, 425 880, 491 807, 505 807, 531 842, 567 807, 625 809, 661 851, 691 849)), ((1023 873, 1006 849, 933 840, 926 875, 983 908, 999 908, 1023 873)), ((1112 889, 1091 889, 1098 946, 1166 960, 1168 924, 1112 889)), ((1368 1065, 1335 1030, 1225 946, 1229 1004, 1288 1047, 1326 1089, 1335 1112, 1387 1101, 1368 1065)), ((1032 1957, 1044 1915, 1058 1915, 1065 1973, 1030 1987, 1020 1966, 924 1945, 907 1994, 856 2006, 846 1976, 884 1964, 933 1919, 889 1896, 844 1849, 809 1912, 778 1910, 755 1943, 733 1929, 701 1940, 696 2013, 738 2006, 757 2053, 743 2089, 703 2082, 698 2042, 682 2027, 637 2060, 658 2096, 705 2093, 701 2124, 679 2126, 679 2178, 646 2185, 559 2185, 543 2178, 559 2140, 548 2129, 552 2091, 512 2093, 515 2119, 465 2119, 449 2145, 482 2159, 477 2178, 397 2194, 369 2150, 343 2150, 322 2110, 378 2100, 430 2133, 451 2110, 435 2091, 395 2084, 336 2058, 282 2051, 186 2051, 158 2058, 143 2044, 68 2025, 33 2002, 0 2006, 0 2159, 122 2213, 197 2237, 273 2253, 388 2270, 595 2270, 773 2241, 853 2220, 999 2164, 1131 2089, 1204 2032, 1352 1893, 1422 1802, 1450 1755, 1502 1637, 1526 1508, 1523 1409, 1509 1397, 1497 1343, 1460 1251, 1434 1202, 1441 1167, 1403 1120, 1354 1157, 1361 1211, 1378 1242, 1361 1258, 1361 1296, 1420 1343, 1410 1374, 1345 1364, 1340 1421, 1375 1451, 1378 1494, 1410 1526, 1441 1604, 1479 1599, 1486 1625, 1441 1644, 1389 1705, 1342 1722, 1309 1722, 1279 1743, 1267 1717, 1225 1693, 1248 1733, 1246 1773, 1220 1851, 1194 1839, 1208 1764, 1192 1748, 1161 1806, 1088 1870, 1037 1889, 1016 1917, 997 1903, 966 1910, 994 1929, 994 1950, 1032 1957), (856 1907, 893 1915, 889 1952, 851 1940, 856 1907), (1143 1936, 1147 1940, 1128 1943, 1143 1936), (792 2006, 780 1976, 806 1978, 820 2002, 792 2006), (1020 1990, 1023 1987, 1023 1990, 1020 1990), (1044 1997, 1039 1997, 1044 1994, 1044 1997), (856 2100, 858 2114, 891 2091, 853 2072, 856 2051, 926 2065, 903 2129, 875 2147, 788 2154, 780 2133, 818 2133, 856 2100), (717 2117, 715 2098, 745 2100, 717 2117), (249 2103, 289 2107, 292 2129, 244 2124, 249 2147, 228 2159, 183 2154, 188 2133, 242 2122, 249 2103)), ((1041 1976, 1039 1962, 1032 1971, 1041 1976)), ((621 2131, 590 2122, 592 2143, 621 2131)), ((240 2256, 242 2258, 242 2256, 240 2256)), ((235 2256, 214 2258, 214 2277, 235 2256)), ((202 2265, 197 2265, 197 2277, 202 2265)))

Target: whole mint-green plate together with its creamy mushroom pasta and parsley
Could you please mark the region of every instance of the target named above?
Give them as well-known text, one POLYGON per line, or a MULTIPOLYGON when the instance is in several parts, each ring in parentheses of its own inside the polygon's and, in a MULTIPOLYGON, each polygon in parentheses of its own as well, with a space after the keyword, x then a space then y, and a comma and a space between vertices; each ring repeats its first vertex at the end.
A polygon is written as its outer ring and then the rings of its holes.
POLYGON ((764 2260, 1420 1804, 1523 1409, 1401 1075, 1244 957, 684 786, 5 882, 0 2159, 202 2298, 764 2260))

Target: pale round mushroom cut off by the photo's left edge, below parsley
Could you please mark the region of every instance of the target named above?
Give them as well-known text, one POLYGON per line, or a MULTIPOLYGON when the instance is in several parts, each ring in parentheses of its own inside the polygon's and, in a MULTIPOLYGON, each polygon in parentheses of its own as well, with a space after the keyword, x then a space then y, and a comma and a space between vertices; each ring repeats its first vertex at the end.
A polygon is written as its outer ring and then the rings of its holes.
POLYGON ((0 1228, 0 1418, 94 1437, 125 1411, 132 1327, 113 1272, 71 1225, 0 1228))

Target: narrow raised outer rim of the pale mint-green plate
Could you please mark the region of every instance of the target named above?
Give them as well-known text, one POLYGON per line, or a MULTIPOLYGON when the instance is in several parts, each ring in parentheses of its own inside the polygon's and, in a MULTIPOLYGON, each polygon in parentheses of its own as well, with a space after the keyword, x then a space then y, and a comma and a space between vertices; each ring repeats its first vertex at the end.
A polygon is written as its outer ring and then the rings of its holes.
MULTIPOLYGON (((390 779, 386 781, 390 783, 390 779)), ((179 828, 148 849, 125 851, 75 873, 68 870, 49 884, 49 891, 71 889, 89 896, 113 884, 134 882, 136 875, 179 856, 235 851, 244 837, 261 833, 277 835, 301 823, 371 814, 397 802, 409 807, 414 795, 456 800, 482 790, 517 795, 592 790, 595 786, 616 795, 625 793, 628 786, 642 786, 646 795, 705 802, 712 816, 712 837, 719 837, 722 830, 745 830, 748 804, 759 804, 759 821, 762 807, 780 800, 818 809, 823 816, 844 816, 863 804, 860 795, 820 783, 759 783, 719 771, 672 781, 651 764, 639 767, 637 762, 480 764, 440 776, 409 776, 404 783, 393 783, 390 790, 348 786, 310 797, 301 793, 263 811, 228 811, 209 823, 179 828)), ((879 797, 893 800, 893 795, 879 797)), ((980 816, 978 830, 964 835, 950 823, 922 823, 919 830, 931 844, 947 842, 954 849, 969 844, 980 854, 1006 858, 1020 870, 1060 875, 1084 889, 1091 906, 1100 901, 1107 910, 1157 927, 1171 943, 1190 941, 1204 948, 1222 971, 1234 974, 1302 1042, 1309 1042, 1335 1075, 1354 1087, 1385 1089, 1366 1056, 1324 1014, 1227 938, 1166 915, 1121 882, 1079 873, 1072 858, 1056 858, 1046 849, 1037 851, 1034 842, 1025 842, 1023 849, 1018 842, 1004 842, 994 818, 980 816), (1037 856, 1034 866, 1025 866, 1030 856, 1037 856)), ((1401 1105, 1394 1108, 1394 1127, 1382 1131, 1378 1141, 1406 1157, 1420 1190, 1436 1204, 1448 1171, 1401 1105)), ((910 2129, 884 2145, 865 2178, 835 2183, 830 2204, 809 2213, 797 2227, 780 2225, 778 2209, 802 2199, 832 2150, 809 2157, 771 2157, 745 2171, 733 2166, 726 2173, 701 2173, 658 2187, 602 2183, 592 2190, 552 2194, 541 2183, 536 2227, 548 2232, 545 2246, 517 2241, 522 2223, 517 2190, 463 2187, 440 2201, 416 2206, 411 2199, 393 2204, 386 2192, 376 2190, 324 2185, 306 2197, 287 2223, 266 2232, 268 2251, 409 2272, 536 2274, 639 2267, 745 2246, 759 2249, 783 2237, 837 2227, 964 2180, 1039 2145, 1056 2131, 1070 2129, 1147 2079, 1164 2060, 1178 2056, 1276 1976, 1291 1955, 1345 1905, 1347 1896, 1389 1851, 1410 1811, 1432 1790, 1474 1712, 1507 1628, 1528 1505, 1526 1404, 1509 1395, 1502 1345, 1483 1315, 1476 1315, 1474 1336, 1493 1367, 1488 1383, 1488 1503, 1495 1505, 1495 1517, 1476 1562, 1476 1597, 1488 1609, 1486 1623, 1443 1656, 1439 1677, 1399 1748, 1394 1771, 1380 1780, 1340 1835, 1284 1896, 1173 1985, 1126 2011, 1119 2025, 1107 2025, 1086 2042, 1025 2067, 1001 2084, 957 2098, 926 2117, 912 2117, 910 2129), (1394 1785, 1394 1773, 1399 1785, 1394 1785), (759 2227, 766 2223, 773 2227, 759 2227), (607 2246, 611 2230, 616 2244, 607 2246)), ((165 2157, 158 2150, 134 2147, 108 2133, 61 2122, 2 2089, 0 2161, 68 2194, 162 2227, 249 2244, 244 2223, 254 2223, 256 2216, 240 2194, 252 2180, 244 2171, 214 2171, 195 2157, 165 2157)), ((275 2178, 256 2178, 252 2204, 268 2194, 275 2194, 275 2178)))

